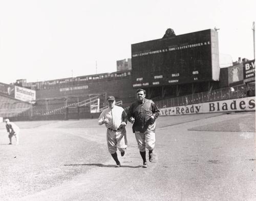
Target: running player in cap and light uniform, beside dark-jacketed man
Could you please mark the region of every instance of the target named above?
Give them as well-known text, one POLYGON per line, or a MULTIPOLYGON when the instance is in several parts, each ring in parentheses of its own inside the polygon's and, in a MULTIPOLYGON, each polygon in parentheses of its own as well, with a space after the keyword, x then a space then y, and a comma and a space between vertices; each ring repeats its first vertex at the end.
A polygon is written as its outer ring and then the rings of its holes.
POLYGON ((116 167, 120 167, 120 162, 117 157, 117 149, 123 157, 126 147, 126 130, 127 114, 122 107, 115 105, 115 97, 109 96, 107 99, 109 107, 104 109, 98 119, 99 125, 105 124, 106 141, 108 143, 109 152, 116 162, 116 167))

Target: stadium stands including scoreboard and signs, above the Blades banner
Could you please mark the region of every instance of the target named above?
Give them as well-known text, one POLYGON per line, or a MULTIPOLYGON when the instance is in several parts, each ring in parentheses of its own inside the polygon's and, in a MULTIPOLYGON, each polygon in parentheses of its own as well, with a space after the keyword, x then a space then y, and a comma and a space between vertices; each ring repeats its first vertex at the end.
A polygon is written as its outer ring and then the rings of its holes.
POLYGON ((143 88, 159 108, 253 97, 255 60, 239 58, 220 68, 215 30, 165 36, 132 44, 132 59, 119 60, 116 72, 0 83, 0 117, 98 118, 107 96, 128 109, 136 88, 143 88))

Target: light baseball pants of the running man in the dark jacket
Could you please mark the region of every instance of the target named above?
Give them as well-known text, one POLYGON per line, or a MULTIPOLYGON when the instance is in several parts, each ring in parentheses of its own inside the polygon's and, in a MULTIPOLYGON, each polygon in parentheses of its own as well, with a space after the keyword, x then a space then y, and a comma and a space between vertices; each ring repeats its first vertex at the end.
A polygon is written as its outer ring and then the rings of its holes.
POLYGON ((138 148, 141 152, 153 150, 156 143, 156 134, 154 131, 147 129, 145 132, 135 131, 135 137, 138 143, 138 148))

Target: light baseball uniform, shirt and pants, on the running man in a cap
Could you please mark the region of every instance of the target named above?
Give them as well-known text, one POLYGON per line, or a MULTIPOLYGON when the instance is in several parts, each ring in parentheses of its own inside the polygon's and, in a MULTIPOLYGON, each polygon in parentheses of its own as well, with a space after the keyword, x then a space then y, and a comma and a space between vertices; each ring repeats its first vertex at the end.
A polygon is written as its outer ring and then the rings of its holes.
POLYGON ((115 153, 117 149, 123 152, 127 147, 127 138, 125 127, 118 131, 113 131, 111 129, 117 129, 122 122, 127 122, 127 115, 122 107, 114 106, 112 109, 110 107, 104 109, 99 116, 99 123, 102 123, 104 119, 108 119, 109 123, 105 124, 106 128, 106 141, 108 144, 109 152, 111 154, 115 153))

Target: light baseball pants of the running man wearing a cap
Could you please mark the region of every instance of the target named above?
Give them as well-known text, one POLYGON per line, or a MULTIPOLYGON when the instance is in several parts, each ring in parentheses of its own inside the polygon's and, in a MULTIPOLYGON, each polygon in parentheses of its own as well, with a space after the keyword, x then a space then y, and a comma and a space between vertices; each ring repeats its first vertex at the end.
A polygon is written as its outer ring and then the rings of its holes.
POLYGON ((127 147, 126 130, 123 128, 121 131, 112 131, 106 129, 106 142, 108 143, 109 152, 115 153, 117 149, 120 152, 125 151, 127 147))

